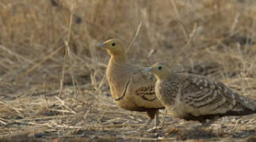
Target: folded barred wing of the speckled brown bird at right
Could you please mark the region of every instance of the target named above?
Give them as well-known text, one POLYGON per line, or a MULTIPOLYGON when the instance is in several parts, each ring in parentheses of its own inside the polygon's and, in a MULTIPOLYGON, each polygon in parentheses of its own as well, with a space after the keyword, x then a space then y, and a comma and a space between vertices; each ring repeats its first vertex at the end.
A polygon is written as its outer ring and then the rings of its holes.
POLYGON ((188 74, 180 90, 180 100, 194 116, 228 114, 235 109, 238 93, 206 77, 188 74))

